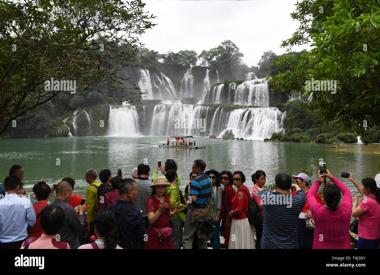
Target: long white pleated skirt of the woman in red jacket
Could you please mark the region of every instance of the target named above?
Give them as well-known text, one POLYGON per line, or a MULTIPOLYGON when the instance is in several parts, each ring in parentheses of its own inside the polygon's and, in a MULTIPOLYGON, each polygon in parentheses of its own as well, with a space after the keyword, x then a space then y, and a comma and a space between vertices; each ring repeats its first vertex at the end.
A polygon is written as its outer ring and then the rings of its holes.
POLYGON ((232 219, 228 249, 255 249, 253 230, 248 218, 232 219))

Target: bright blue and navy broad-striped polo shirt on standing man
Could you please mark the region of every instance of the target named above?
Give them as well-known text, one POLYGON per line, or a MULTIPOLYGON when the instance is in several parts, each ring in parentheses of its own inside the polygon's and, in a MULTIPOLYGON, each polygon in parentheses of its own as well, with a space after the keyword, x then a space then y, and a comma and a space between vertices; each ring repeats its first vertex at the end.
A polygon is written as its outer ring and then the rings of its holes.
POLYGON ((199 174, 193 179, 190 186, 190 196, 196 196, 196 201, 192 202, 194 209, 204 209, 211 201, 211 179, 206 174, 199 174))

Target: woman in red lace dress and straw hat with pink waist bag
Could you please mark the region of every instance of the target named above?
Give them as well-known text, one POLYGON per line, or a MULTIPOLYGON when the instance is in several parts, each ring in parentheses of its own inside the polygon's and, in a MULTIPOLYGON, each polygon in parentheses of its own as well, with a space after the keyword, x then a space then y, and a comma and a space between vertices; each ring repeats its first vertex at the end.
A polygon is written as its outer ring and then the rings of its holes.
POLYGON ((164 177, 155 178, 153 184, 150 185, 153 191, 152 196, 146 202, 145 209, 150 223, 147 229, 148 240, 145 242, 145 249, 174 249, 171 237, 160 241, 152 228, 152 226, 154 228, 169 227, 169 218, 174 217, 179 212, 177 208, 171 211, 169 197, 165 196, 167 186, 170 186, 170 183, 167 183, 164 177))

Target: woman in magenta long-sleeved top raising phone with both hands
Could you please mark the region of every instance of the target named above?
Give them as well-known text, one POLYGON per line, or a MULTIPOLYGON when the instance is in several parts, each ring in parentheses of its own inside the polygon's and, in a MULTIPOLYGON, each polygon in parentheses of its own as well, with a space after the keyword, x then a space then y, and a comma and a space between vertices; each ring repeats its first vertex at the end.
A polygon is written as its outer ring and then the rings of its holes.
POLYGON ((351 249, 348 226, 351 221, 352 198, 347 186, 333 177, 330 171, 327 170, 323 176, 318 171, 318 179, 310 187, 307 201, 315 222, 313 249, 351 249), (321 205, 315 199, 315 194, 325 177, 334 184, 329 183, 323 188, 325 205, 321 205), (340 192, 343 194, 341 204, 340 192))

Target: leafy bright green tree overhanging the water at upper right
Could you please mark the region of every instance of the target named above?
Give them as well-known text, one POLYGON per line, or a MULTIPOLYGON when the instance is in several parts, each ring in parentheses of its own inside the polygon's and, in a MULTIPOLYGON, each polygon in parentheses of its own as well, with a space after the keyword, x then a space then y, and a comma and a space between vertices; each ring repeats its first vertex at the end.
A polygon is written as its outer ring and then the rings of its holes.
POLYGON ((299 58, 280 58, 277 65, 290 66, 290 70, 274 76, 271 83, 287 94, 295 90, 306 98, 312 96, 312 101, 303 104, 304 109, 319 111, 322 121, 338 118, 341 130, 351 128, 366 136, 368 128, 380 124, 378 2, 306 1, 297 4, 296 17, 306 17, 317 5, 332 7, 323 9, 324 16, 312 19, 312 26, 321 26, 318 32, 310 33, 313 28, 306 28, 302 22, 296 35, 284 41, 291 46, 310 39, 313 49, 299 58), (329 85, 320 89, 315 81, 328 81, 329 85))

